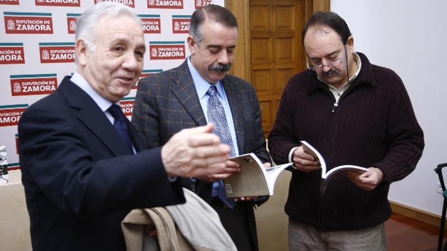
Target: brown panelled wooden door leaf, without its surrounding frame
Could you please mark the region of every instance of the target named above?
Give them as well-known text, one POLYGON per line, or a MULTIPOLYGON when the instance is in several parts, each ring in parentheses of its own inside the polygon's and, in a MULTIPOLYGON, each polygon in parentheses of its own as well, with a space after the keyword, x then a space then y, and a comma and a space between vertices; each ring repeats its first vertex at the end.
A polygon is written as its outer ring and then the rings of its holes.
POLYGON ((256 89, 266 136, 272 129, 282 91, 305 68, 300 30, 304 1, 252 0, 250 22, 250 82, 256 89))

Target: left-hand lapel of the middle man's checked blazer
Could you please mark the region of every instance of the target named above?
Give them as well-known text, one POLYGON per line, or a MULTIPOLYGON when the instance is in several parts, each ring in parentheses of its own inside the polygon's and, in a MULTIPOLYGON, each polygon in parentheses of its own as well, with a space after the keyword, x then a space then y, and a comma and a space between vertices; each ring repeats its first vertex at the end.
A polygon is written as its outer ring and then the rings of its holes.
POLYGON ((173 69, 171 91, 178 98, 186 112, 196 121, 197 125, 203 126, 206 125, 205 115, 203 114, 186 60, 179 67, 173 69))

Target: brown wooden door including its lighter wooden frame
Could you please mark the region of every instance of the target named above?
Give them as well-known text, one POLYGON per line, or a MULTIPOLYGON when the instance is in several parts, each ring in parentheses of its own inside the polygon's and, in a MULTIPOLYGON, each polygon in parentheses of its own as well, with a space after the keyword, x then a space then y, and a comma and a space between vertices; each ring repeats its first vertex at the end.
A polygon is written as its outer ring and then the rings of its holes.
POLYGON ((329 10, 329 0, 227 0, 239 23, 231 74, 257 91, 267 137, 287 81, 306 67, 301 31, 315 11, 329 10))

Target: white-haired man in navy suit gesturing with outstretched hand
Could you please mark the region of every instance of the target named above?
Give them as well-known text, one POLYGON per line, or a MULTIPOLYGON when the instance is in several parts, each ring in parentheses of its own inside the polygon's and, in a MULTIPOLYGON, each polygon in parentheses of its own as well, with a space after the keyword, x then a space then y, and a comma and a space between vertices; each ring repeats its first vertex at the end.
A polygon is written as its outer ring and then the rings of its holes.
POLYGON ((145 150, 117 105, 138 80, 144 52, 132 9, 95 5, 78 20, 77 71, 21 117, 33 250, 125 250, 121 221, 131 209, 184 203, 177 176, 237 171, 212 126, 145 150))

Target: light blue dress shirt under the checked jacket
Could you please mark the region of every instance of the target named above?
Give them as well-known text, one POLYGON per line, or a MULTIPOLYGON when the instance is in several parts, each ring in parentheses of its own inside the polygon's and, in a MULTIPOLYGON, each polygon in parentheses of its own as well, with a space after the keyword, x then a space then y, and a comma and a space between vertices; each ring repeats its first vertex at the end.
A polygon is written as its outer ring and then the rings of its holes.
MULTIPOLYGON (((208 121, 208 89, 212 86, 212 84, 208 83, 206 80, 200 76, 199 72, 194 68, 193 64, 188 57, 188 67, 189 72, 191 73, 191 77, 193 77, 194 86, 196 87, 197 95, 199 97, 200 105, 202 106, 203 114, 205 115, 206 122, 208 121)), ((228 104, 227 94, 225 93, 225 89, 223 88, 222 82, 219 81, 215 84, 217 89, 217 98, 223 105, 223 110, 225 110, 225 116, 227 117, 228 127, 230 129, 231 139, 233 141, 233 148, 236 155, 239 155, 239 149, 237 147, 236 140, 236 131, 234 129, 233 116, 231 115, 230 105, 228 104)), ((213 192, 211 194, 212 197, 218 196, 218 182, 213 183, 213 192)))

